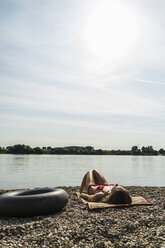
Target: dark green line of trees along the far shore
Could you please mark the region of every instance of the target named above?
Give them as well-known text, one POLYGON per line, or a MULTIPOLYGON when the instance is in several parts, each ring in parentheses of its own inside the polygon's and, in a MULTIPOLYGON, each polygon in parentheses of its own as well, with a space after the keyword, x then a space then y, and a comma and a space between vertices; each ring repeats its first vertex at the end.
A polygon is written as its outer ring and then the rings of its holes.
POLYGON ((17 144, 0 147, 1 154, 77 154, 77 155, 165 155, 165 150, 155 150, 152 146, 132 146, 131 150, 102 150, 92 146, 34 147, 17 144))

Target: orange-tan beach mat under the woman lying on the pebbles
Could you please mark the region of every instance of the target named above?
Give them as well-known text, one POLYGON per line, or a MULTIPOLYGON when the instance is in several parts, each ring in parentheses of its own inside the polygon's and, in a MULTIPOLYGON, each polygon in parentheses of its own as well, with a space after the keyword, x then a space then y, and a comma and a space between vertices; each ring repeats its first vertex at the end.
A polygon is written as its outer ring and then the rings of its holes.
POLYGON ((149 203, 145 198, 142 196, 132 196, 132 203, 131 204, 110 204, 110 203, 103 203, 103 202, 88 202, 80 197, 80 193, 76 193, 78 198, 89 207, 89 209, 97 209, 97 208, 115 208, 115 207, 129 207, 135 205, 152 205, 149 203))

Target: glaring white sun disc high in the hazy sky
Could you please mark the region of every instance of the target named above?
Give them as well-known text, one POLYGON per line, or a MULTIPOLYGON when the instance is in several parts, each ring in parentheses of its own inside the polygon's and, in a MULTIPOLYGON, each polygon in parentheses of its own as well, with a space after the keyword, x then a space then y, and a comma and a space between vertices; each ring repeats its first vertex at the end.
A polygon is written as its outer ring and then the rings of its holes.
POLYGON ((137 43, 138 35, 136 12, 118 1, 102 1, 95 6, 84 29, 89 51, 108 61, 126 58, 137 43))

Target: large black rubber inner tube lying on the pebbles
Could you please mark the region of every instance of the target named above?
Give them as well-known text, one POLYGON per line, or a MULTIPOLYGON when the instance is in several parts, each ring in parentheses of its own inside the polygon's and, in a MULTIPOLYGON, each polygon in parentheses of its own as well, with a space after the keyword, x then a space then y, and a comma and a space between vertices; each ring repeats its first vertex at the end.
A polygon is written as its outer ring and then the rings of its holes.
POLYGON ((66 206, 68 195, 58 188, 38 188, 0 195, 0 216, 48 215, 66 206))

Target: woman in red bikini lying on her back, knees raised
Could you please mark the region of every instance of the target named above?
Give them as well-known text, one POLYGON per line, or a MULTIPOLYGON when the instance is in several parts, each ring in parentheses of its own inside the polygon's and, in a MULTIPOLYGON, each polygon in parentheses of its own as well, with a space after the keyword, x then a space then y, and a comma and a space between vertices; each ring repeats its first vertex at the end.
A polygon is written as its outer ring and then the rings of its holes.
POLYGON ((88 171, 81 183, 80 196, 90 202, 131 203, 129 192, 118 184, 108 184, 97 170, 88 171), (85 193, 84 193, 85 189, 85 193))

